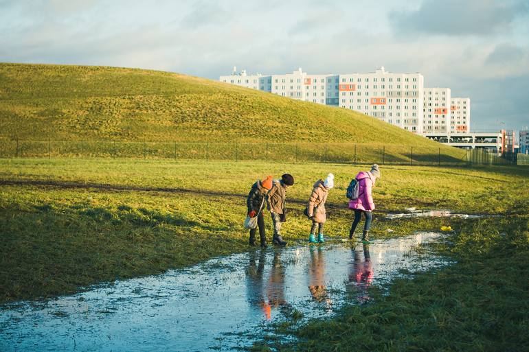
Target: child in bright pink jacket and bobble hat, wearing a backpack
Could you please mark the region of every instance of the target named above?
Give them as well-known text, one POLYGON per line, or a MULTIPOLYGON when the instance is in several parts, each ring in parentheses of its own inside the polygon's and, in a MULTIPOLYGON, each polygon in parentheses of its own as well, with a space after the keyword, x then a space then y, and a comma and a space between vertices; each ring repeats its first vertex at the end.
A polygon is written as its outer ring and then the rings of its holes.
POLYGON ((376 178, 380 178, 379 165, 373 164, 371 170, 368 172, 361 171, 357 174, 356 179, 359 182, 359 196, 357 199, 349 201, 349 209, 354 210, 354 221, 352 222, 349 231, 349 239, 354 237, 354 231, 360 222, 361 215, 365 216, 365 224, 363 226, 362 241, 369 242, 369 229, 373 220, 372 211, 374 210, 373 196, 371 189, 374 186, 376 178))

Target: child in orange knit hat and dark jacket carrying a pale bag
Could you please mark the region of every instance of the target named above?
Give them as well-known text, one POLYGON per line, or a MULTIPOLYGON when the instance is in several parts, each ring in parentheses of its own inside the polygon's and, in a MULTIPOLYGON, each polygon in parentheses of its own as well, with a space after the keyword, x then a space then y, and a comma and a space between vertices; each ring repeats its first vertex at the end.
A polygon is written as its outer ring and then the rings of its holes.
MULTIPOLYGON (((250 193, 248 193, 248 198, 246 200, 246 205, 248 207, 248 216, 250 218, 255 218, 257 216, 257 226, 259 228, 259 236, 261 239, 261 247, 267 247, 267 236, 264 232, 264 215, 262 210, 265 205, 265 196, 268 191, 272 188, 272 176, 267 176, 264 180, 257 180, 254 185, 251 186, 250 193)), ((256 245, 256 231, 257 228, 250 229, 250 246, 256 245)))

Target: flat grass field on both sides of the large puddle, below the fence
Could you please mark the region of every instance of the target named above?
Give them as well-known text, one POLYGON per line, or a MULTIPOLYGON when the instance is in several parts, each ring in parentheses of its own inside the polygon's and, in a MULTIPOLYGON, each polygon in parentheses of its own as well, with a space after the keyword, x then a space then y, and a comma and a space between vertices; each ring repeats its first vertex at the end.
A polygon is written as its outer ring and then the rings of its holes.
MULTIPOLYGON (((344 197, 368 165, 133 159, 0 160, 0 303, 46 298, 87 285, 156 274, 249 250, 245 195, 257 178, 289 172, 284 239, 306 241, 311 185, 328 172, 327 237, 346 237, 344 197)), ((389 294, 334 318, 273 327, 254 351, 521 351, 529 342, 527 167, 381 167, 374 238, 437 231, 434 250, 453 266, 397 279, 389 294), (484 220, 386 220, 387 212, 451 209, 484 220), (389 233, 387 230, 394 232, 389 233), (296 342, 280 342, 288 333, 296 342)), ((271 237, 268 218, 267 235, 271 237)))

